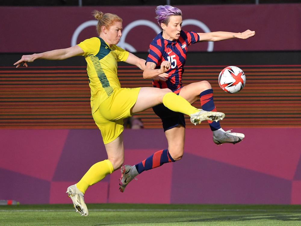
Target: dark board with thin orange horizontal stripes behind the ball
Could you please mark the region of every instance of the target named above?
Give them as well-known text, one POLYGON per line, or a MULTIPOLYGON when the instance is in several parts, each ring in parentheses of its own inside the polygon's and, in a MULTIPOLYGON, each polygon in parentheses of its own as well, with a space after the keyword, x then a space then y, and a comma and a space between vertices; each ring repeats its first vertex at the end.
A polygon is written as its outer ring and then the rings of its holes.
MULTIPOLYGON (((247 76, 236 94, 218 85, 224 66, 186 66, 184 85, 207 80, 224 128, 301 127, 301 65, 237 65, 247 76)), ((0 67, 0 127, 3 129, 96 129, 85 67, 0 67)), ((119 66, 122 87, 151 86, 142 71, 119 66)), ((200 102, 194 104, 200 108, 200 102)), ((152 109, 135 114, 145 128, 161 128, 152 109)), ((186 117, 187 128, 193 128, 186 117)), ((207 127, 204 122, 200 127, 207 127)))

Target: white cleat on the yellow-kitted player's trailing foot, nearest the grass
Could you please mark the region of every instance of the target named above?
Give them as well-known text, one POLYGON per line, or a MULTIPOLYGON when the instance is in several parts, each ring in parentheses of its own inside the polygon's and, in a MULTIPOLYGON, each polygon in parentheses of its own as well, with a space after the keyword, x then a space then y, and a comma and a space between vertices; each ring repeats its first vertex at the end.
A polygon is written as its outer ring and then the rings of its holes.
POLYGON ((66 193, 71 198, 76 212, 79 212, 82 216, 88 216, 89 212, 85 204, 84 194, 76 187, 76 184, 69 186, 66 193))

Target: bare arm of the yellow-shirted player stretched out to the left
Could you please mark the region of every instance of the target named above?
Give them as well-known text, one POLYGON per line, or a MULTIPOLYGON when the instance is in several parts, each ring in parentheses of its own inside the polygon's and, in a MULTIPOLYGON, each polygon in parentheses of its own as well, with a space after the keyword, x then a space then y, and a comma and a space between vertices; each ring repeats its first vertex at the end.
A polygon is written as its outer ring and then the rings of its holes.
POLYGON ((33 62, 36 59, 45 60, 64 60, 73 56, 82 56, 84 51, 79 46, 72 46, 67 49, 55 49, 48 52, 34 53, 32 55, 23 55, 22 58, 14 63, 19 67, 21 64, 27 67, 27 62, 33 62))

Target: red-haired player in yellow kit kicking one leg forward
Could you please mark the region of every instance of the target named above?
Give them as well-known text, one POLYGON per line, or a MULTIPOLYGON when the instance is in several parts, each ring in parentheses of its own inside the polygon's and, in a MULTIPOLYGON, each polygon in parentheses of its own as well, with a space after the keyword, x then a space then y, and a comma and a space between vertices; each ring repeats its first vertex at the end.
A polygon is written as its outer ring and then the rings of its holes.
MULTIPOLYGON (((172 93, 170 89, 153 87, 121 88, 117 77, 117 61, 125 61, 145 69, 145 60, 119 48, 122 30, 122 19, 115 14, 93 12, 98 20, 98 37, 86 39, 76 46, 67 49, 57 49, 33 55, 23 55, 14 63, 27 67, 26 62, 36 59, 63 60, 73 56, 85 56, 89 86, 91 88, 91 108, 93 119, 101 131, 108 159, 97 162, 86 172, 82 179, 67 188, 68 196, 72 199, 76 212, 88 216, 84 202, 87 188, 102 180, 107 174, 119 169, 124 160, 123 149, 123 119, 133 113, 163 103, 172 111, 182 112, 191 116, 191 122, 199 124, 203 120, 218 121, 225 114, 221 112, 203 111, 194 108, 181 96, 172 93)), ((161 73, 171 66, 169 61, 160 65, 161 73)), ((164 75, 161 75, 164 76, 164 75)), ((157 77, 157 76, 154 76, 157 77)))

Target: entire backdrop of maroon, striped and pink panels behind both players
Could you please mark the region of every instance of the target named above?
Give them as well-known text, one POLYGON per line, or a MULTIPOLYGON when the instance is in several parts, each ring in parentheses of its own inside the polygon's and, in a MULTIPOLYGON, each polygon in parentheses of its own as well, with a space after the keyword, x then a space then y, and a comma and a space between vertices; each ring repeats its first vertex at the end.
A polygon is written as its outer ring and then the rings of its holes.
MULTIPOLYGON (((119 45, 146 58, 160 32, 154 9, 166 2, 96 2, 82 1, 82 7, 78 1, 47 1, 44 6, 20 1, 14 7, 1 2, 0 199, 69 203, 67 187, 106 158, 91 117, 84 58, 39 60, 18 69, 12 65, 23 54, 67 48, 95 36, 94 9, 122 17, 119 45)), ((247 40, 190 46, 184 75, 184 84, 212 84, 217 109, 227 115, 222 127, 246 138, 216 146, 206 123, 193 127, 186 118, 181 161, 144 172, 126 193, 118 190, 116 171, 88 189, 88 203, 301 204, 301 4, 283 2, 171 1, 183 12, 183 30, 256 31, 247 40), (247 75, 240 93, 228 94, 218 86, 218 74, 228 65, 247 75)), ((123 87, 151 86, 134 67, 120 64, 118 73, 123 87)), ((151 109, 135 117, 144 129, 124 132, 125 163, 130 165, 167 148, 160 119, 151 109)))

